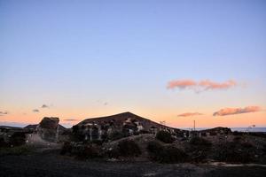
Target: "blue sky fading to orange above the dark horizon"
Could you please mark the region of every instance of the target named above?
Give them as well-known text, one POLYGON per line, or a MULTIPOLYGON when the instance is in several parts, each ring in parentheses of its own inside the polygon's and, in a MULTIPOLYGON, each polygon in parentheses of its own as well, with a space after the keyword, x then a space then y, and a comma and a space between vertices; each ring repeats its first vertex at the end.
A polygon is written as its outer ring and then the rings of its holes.
POLYGON ((0 124, 133 112, 266 127, 266 2, 0 0, 0 124))

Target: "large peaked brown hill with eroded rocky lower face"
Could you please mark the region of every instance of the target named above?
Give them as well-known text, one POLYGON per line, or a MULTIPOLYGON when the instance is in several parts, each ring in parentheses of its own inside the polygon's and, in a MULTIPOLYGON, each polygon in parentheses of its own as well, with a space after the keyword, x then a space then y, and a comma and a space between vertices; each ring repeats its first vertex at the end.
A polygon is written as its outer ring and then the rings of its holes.
POLYGON ((131 112, 84 119, 72 127, 73 135, 79 141, 115 140, 130 135, 156 134, 162 129, 172 134, 184 133, 184 130, 161 125, 131 112))

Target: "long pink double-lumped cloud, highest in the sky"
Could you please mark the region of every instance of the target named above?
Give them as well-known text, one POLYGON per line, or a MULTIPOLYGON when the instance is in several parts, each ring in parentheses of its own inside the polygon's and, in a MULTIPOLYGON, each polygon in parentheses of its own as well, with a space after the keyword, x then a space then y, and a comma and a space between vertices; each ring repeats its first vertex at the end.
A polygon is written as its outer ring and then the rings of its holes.
POLYGON ((238 83, 233 80, 216 82, 210 80, 193 81, 193 80, 176 80, 168 82, 168 89, 192 89, 195 92, 206 91, 209 89, 230 89, 237 86, 238 83))

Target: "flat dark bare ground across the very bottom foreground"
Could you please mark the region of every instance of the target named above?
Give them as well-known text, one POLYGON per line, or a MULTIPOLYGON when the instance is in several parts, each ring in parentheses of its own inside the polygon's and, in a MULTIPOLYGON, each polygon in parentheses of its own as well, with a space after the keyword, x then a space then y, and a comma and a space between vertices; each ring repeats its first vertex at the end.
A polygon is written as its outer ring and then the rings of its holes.
POLYGON ((264 166, 166 165, 151 162, 82 161, 51 151, 0 157, 0 176, 241 176, 260 177, 264 166))

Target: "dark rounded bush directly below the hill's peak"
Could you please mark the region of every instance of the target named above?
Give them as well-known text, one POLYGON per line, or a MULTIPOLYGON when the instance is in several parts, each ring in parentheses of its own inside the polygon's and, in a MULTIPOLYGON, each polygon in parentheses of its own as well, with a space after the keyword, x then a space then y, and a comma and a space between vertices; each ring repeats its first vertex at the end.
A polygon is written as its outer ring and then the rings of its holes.
POLYGON ((141 150, 133 140, 122 140, 118 142, 117 148, 121 157, 134 157, 141 154, 141 150))

